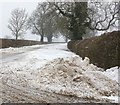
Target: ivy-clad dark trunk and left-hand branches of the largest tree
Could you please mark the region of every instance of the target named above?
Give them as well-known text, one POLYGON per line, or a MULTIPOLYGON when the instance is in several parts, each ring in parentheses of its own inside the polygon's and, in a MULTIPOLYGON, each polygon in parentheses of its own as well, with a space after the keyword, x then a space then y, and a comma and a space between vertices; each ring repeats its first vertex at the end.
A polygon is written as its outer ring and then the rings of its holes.
MULTIPOLYGON (((53 3, 59 14, 67 19, 67 30, 70 31, 72 40, 82 40, 86 32, 87 2, 58 2, 53 3)), ((65 25, 64 25, 65 26, 65 25)))

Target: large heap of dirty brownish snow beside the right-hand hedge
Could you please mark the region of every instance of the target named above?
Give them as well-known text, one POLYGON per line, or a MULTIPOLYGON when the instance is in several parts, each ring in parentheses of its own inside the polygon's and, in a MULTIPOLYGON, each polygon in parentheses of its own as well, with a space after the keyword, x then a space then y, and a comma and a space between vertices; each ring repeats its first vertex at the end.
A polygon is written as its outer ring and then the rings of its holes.
MULTIPOLYGON (((87 100, 104 100, 103 96, 117 96, 118 83, 90 64, 89 58, 75 56, 58 58, 39 69, 37 82, 46 91, 75 96, 87 100), (42 85, 41 85, 42 86, 42 85)), ((104 102, 103 101, 103 102, 104 102)))

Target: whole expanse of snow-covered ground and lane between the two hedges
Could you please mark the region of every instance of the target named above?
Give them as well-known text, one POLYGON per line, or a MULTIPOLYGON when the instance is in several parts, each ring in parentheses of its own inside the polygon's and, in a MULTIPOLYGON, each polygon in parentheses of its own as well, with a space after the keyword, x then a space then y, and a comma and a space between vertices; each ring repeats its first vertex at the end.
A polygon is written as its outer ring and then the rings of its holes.
POLYGON ((116 102, 118 68, 104 71, 67 44, 0 49, 2 102, 116 102))

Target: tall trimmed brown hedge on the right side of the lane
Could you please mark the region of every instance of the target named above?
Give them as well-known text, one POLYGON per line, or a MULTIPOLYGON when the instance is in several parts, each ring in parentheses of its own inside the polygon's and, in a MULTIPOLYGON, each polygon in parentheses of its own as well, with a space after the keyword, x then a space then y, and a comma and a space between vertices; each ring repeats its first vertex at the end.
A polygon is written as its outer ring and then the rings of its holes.
POLYGON ((120 66, 120 31, 81 41, 70 41, 68 48, 82 58, 90 58, 91 63, 98 67, 108 69, 120 66))

